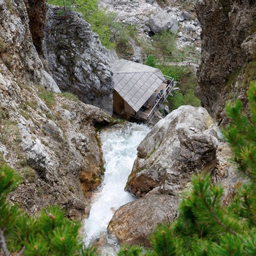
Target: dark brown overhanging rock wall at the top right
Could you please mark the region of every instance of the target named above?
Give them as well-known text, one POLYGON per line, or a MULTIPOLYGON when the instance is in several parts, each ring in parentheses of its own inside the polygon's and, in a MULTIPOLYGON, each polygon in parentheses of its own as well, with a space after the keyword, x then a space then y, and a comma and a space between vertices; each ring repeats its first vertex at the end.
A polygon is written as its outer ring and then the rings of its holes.
POLYGON ((197 97, 211 116, 221 121, 227 99, 246 102, 248 82, 238 86, 236 78, 240 68, 252 59, 249 49, 255 45, 255 36, 250 34, 255 32, 256 2, 201 0, 195 9, 202 28, 197 97))

